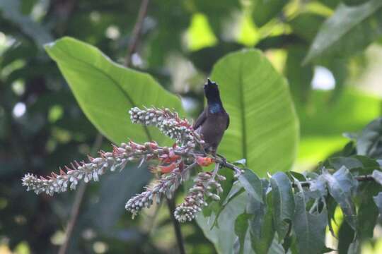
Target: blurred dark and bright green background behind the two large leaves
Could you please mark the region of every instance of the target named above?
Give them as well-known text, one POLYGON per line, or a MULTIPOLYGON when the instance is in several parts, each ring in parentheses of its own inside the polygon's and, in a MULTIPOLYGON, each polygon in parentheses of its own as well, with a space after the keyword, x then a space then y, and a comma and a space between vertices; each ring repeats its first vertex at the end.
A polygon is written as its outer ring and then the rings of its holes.
MULTIPOLYGON (((340 1, 267 2, 150 1, 132 66, 180 95, 196 116, 216 60, 243 47, 262 49, 288 78, 296 103, 301 141, 295 169, 312 169, 345 145, 342 133, 381 115, 382 25, 360 24, 372 39, 348 35, 358 51, 301 66, 340 1)), ((37 196, 25 191, 21 178, 84 158, 98 133, 42 45, 72 36, 124 63, 140 4, 0 0, 0 253, 57 252, 75 192, 37 196)), ((100 147, 110 150, 110 142, 103 139, 100 147)), ((147 171, 127 169, 89 184, 69 253, 177 253, 166 207, 154 206, 134 221, 123 208, 149 179, 147 171)), ((195 222, 182 229, 187 253, 214 253, 195 222)))

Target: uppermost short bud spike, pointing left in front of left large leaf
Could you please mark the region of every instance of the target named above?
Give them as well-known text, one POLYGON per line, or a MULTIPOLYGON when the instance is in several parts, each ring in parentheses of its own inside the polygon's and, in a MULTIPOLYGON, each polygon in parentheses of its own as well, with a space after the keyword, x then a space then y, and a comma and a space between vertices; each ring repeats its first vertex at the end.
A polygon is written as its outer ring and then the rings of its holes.
POLYGON ((192 146, 194 143, 204 143, 187 119, 180 119, 178 113, 170 109, 139 109, 134 107, 129 110, 133 123, 145 126, 156 126, 159 131, 172 138, 180 145, 192 146))

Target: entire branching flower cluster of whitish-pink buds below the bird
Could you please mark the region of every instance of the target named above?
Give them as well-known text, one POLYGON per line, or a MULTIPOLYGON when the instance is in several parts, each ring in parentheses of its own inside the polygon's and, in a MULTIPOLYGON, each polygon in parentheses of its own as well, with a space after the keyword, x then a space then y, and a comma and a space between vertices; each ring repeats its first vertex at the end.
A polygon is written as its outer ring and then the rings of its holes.
MULTIPOLYGON (((138 109, 129 111, 133 123, 156 126, 165 135, 173 138, 176 143, 173 147, 161 147, 155 142, 144 144, 122 143, 120 146, 112 145, 112 152, 99 152, 99 157, 88 157, 88 162, 74 162, 71 167, 64 167, 59 174, 50 176, 35 176, 26 174, 23 177, 23 186, 27 191, 53 195, 74 190, 79 181, 88 182, 92 179, 98 181, 99 176, 106 171, 124 169, 128 162, 137 162, 139 166, 144 162, 155 160, 149 169, 158 176, 152 186, 146 186, 143 193, 135 195, 126 203, 126 210, 135 217, 144 207, 150 207, 154 200, 161 202, 163 198, 173 198, 175 191, 187 179, 190 169, 197 165, 207 167, 219 162, 217 157, 206 157, 201 148, 204 141, 196 133, 186 119, 180 119, 177 113, 168 109, 138 109)), ((221 160, 221 159, 220 159, 221 160)), ((190 221, 195 214, 206 205, 204 198, 219 200, 219 193, 223 190, 219 181, 225 180, 224 176, 217 174, 219 167, 214 172, 199 173, 195 185, 190 189, 185 202, 175 210, 175 218, 180 222, 190 221)))

